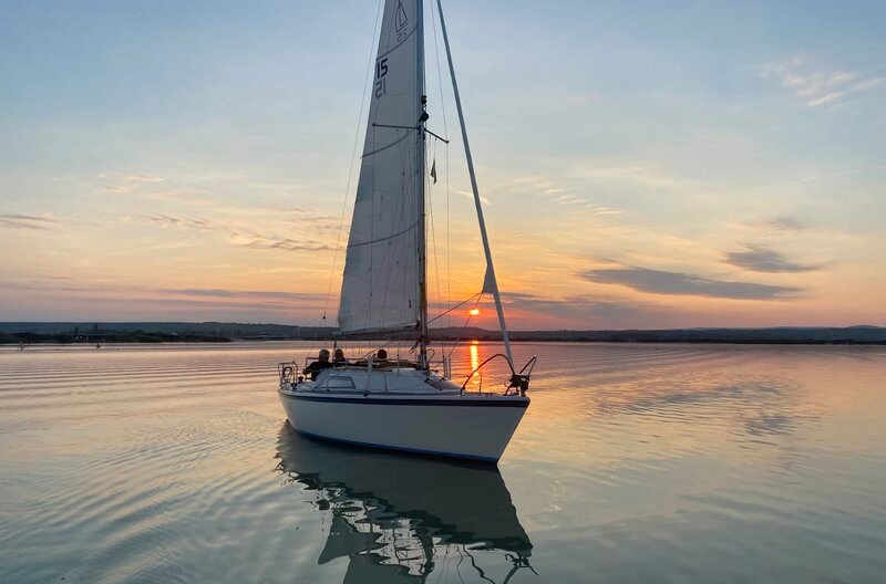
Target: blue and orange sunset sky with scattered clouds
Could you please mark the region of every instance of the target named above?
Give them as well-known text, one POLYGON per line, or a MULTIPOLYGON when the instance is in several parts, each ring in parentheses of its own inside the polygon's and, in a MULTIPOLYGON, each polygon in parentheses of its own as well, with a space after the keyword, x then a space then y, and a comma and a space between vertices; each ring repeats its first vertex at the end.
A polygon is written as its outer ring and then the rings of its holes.
MULTIPOLYGON (((377 9, 0 0, 0 320, 334 324, 377 9)), ((886 3, 444 10, 513 328, 886 325, 886 3)), ((484 260, 430 19, 436 313, 484 260)))

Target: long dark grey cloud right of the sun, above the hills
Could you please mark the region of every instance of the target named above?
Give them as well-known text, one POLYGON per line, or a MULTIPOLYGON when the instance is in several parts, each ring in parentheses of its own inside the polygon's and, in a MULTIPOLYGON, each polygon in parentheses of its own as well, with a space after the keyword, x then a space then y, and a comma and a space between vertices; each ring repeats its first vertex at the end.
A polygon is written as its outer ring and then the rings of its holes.
POLYGON ((701 275, 649 270, 637 267, 588 270, 579 274, 585 280, 600 284, 619 284, 640 292, 707 296, 732 300, 777 300, 794 295, 801 289, 758 284, 753 282, 728 282, 701 275))

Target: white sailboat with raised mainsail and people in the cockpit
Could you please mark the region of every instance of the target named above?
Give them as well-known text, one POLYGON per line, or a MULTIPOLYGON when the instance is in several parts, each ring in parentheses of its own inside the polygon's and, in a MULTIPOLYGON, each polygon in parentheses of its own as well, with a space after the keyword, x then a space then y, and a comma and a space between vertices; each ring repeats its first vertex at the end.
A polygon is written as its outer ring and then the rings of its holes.
POLYGON ((443 138, 426 127, 423 0, 385 0, 338 323, 344 337, 409 340, 415 358, 370 353, 316 378, 281 363, 279 396, 305 435, 497 462, 529 405, 536 359, 514 365, 440 0, 436 8, 486 260, 478 294, 495 301, 504 343, 495 357, 507 362, 509 380, 498 393, 467 392, 452 379, 450 357, 433 363, 429 351, 425 150, 429 136, 443 138))

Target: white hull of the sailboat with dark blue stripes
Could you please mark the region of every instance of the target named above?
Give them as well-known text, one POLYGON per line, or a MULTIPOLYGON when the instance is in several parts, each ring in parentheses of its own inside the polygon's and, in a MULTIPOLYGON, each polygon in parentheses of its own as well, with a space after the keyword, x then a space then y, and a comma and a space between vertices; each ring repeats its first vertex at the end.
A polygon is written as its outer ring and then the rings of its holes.
POLYGON ((299 432, 362 446, 497 461, 529 398, 490 394, 425 395, 279 392, 299 432))

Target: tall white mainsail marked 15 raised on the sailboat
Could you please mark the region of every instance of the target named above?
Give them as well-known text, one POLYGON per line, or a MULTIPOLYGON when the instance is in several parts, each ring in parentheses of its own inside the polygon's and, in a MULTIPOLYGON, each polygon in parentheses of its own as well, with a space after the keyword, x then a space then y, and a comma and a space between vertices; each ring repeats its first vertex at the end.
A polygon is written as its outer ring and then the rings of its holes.
POLYGON ((341 284, 343 333, 418 327, 421 319, 421 0, 385 1, 341 284))

